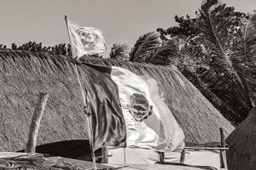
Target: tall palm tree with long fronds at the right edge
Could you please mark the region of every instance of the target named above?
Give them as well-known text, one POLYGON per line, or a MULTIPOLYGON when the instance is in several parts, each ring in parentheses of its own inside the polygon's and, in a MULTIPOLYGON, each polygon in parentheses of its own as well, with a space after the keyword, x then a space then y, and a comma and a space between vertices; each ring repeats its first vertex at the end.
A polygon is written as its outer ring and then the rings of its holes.
MULTIPOLYGON (((215 71, 216 75, 221 77, 215 88, 223 89, 224 94, 220 95, 224 97, 224 101, 230 100, 233 105, 234 103, 235 105, 242 105, 245 112, 241 116, 244 118, 254 106, 254 93, 251 90, 256 88, 256 79, 253 76, 256 75, 256 70, 253 68, 255 63, 252 63, 253 56, 255 56, 253 48, 255 48, 256 41, 255 38, 254 40, 248 39, 253 38, 247 36, 247 29, 245 29, 241 41, 237 41, 237 37, 230 37, 229 28, 240 20, 238 17, 230 18, 230 10, 232 8, 218 2, 209 8, 201 8, 199 26, 201 37, 205 38, 205 42, 212 49, 210 71, 215 71), (250 54, 248 54, 247 49, 250 49, 250 54), (236 98, 236 102, 234 98, 236 98)), ((247 27, 250 26, 253 26, 252 20, 247 25, 247 27)), ((255 33, 255 31, 249 32, 255 33)))

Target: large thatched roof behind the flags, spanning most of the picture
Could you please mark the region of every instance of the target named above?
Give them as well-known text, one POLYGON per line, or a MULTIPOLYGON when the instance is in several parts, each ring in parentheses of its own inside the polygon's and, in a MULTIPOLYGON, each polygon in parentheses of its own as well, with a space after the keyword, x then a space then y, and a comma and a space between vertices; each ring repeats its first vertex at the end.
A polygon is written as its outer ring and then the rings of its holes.
MULTIPOLYGON (((226 135, 234 129, 175 67, 113 59, 91 58, 83 62, 121 66, 154 77, 183 128, 186 142, 219 141, 219 127, 224 128, 226 135)), ((24 148, 40 92, 47 92, 50 97, 38 144, 87 138, 83 102, 73 69, 73 63, 65 56, 0 49, 0 151, 24 148)))

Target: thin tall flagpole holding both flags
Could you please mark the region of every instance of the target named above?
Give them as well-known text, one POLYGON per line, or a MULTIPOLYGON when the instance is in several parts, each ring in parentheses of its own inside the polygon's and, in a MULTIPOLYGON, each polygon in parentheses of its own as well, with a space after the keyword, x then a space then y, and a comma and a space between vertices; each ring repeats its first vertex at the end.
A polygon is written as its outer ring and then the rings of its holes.
MULTIPOLYGON (((70 42, 70 46, 71 46, 71 52, 72 52, 72 56, 73 58, 75 59, 75 54, 74 54, 74 51, 73 51, 73 47, 72 47, 72 42, 71 42, 71 36, 70 36, 70 31, 68 29, 68 23, 67 23, 67 15, 65 15, 65 21, 66 21, 66 26, 67 26, 67 34, 68 34, 68 38, 69 38, 69 42, 70 42)), ((87 106, 87 100, 85 99, 85 95, 84 95, 84 90, 83 90, 83 86, 82 86, 82 83, 80 81, 80 77, 79 77, 79 70, 78 70, 78 67, 76 64, 74 64, 75 66, 75 72, 76 72, 76 76, 77 76, 77 79, 78 79, 78 82, 79 82, 79 87, 80 87, 80 90, 81 90, 81 94, 82 94, 82 98, 83 98, 83 103, 84 103, 84 107, 87 106)), ((86 122, 87 122, 87 132, 88 132, 88 138, 89 138, 89 144, 90 144, 90 151, 91 151, 91 158, 92 158, 92 164, 93 164, 93 169, 96 170, 97 167, 96 167, 96 156, 95 156, 95 153, 94 153, 94 150, 92 149, 92 141, 91 141, 91 127, 90 127, 90 121, 89 121, 89 118, 90 118, 90 115, 86 114, 86 122)))

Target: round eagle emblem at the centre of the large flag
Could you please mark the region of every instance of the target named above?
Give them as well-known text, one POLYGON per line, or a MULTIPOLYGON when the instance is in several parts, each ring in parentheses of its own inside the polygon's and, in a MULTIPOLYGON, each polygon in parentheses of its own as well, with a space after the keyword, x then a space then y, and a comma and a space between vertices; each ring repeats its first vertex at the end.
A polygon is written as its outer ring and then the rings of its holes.
POLYGON ((143 122, 153 113, 153 106, 149 105, 148 99, 143 94, 132 94, 128 109, 137 122, 143 122))

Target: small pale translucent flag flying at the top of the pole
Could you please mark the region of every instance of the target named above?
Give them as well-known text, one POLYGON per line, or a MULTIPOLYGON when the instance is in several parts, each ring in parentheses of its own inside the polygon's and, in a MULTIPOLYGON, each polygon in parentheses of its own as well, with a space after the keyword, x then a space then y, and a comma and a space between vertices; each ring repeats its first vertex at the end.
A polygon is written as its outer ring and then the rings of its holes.
POLYGON ((70 20, 67 20, 67 29, 74 58, 80 58, 85 54, 101 54, 106 50, 102 31, 93 27, 78 26, 70 20))

